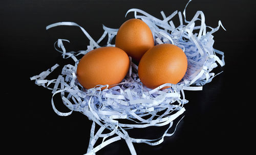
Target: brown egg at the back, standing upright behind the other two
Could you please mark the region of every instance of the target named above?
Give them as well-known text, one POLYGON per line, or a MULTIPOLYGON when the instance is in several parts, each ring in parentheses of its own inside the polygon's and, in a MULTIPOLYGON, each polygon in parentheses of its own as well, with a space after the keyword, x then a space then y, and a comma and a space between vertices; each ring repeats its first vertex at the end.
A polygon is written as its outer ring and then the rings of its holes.
POLYGON ((115 45, 139 62, 144 53, 154 46, 154 38, 148 25, 140 19, 129 19, 119 28, 115 45))

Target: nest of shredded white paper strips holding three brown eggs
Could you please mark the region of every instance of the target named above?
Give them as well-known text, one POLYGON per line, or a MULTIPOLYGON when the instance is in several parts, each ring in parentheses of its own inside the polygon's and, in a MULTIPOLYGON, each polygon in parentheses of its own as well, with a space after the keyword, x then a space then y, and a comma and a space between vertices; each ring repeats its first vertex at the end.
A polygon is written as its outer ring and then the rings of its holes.
POLYGON ((173 121, 185 111, 184 104, 188 100, 185 99, 184 90, 202 90, 202 86, 211 82, 212 78, 217 75, 210 71, 217 67, 218 64, 220 66, 225 65, 224 53, 212 47, 214 44, 212 33, 216 32, 220 27, 223 28, 220 21, 217 28, 206 26, 202 11, 198 11, 190 21, 185 18, 185 10, 183 11, 184 19, 181 12, 178 11, 169 16, 166 16, 161 11, 163 19, 158 19, 139 9, 130 9, 126 14, 130 12, 134 12, 135 18, 143 20, 150 27, 155 44, 172 43, 183 49, 187 56, 188 68, 185 76, 177 85, 163 84, 156 89, 146 88, 139 80, 138 66, 131 61, 130 70, 120 84, 104 90, 101 90, 101 88, 109 86, 98 85, 99 87, 92 89, 83 88, 76 78, 76 68, 79 62, 77 56, 84 55, 94 48, 100 47, 99 43, 105 37, 108 37, 106 46, 115 46, 111 44, 111 41, 117 34, 118 29, 107 28, 103 25, 104 33, 99 40, 95 41, 86 30, 74 22, 58 22, 48 25, 46 29, 59 25, 79 27, 90 40, 88 49, 67 52, 63 41, 69 42, 69 40, 58 39, 54 43, 55 49, 62 53, 63 58, 72 58, 75 62, 74 65, 65 65, 61 74, 54 80, 46 80, 46 77, 59 66, 58 64, 39 75, 31 77, 31 80, 35 80, 36 85, 52 90, 52 107, 58 115, 68 116, 73 111, 77 111, 93 121, 87 154, 95 154, 102 147, 120 139, 125 140, 131 154, 136 154, 133 143, 146 143, 149 145, 162 143, 165 136, 174 134, 168 134, 167 132, 173 126, 173 121), (180 25, 175 27, 172 18, 177 14, 180 19, 180 25), (201 25, 195 25, 197 20, 201 20, 201 25), (211 31, 206 32, 206 28, 211 29, 211 31), (198 33, 193 33, 193 31, 197 30, 199 30, 198 33), (51 87, 52 85, 54 86, 51 87), (171 86, 171 88, 161 90, 165 86, 171 86), (70 112, 63 113, 55 108, 53 97, 58 93, 60 93, 63 104, 70 109, 70 112), (95 123, 101 126, 96 133, 95 123), (167 124, 169 124, 169 127, 157 139, 132 138, 127 132, 132 128, 167 124), (104 130, 109 130, 110 132, 102 134, 104 130), (103 138, 102 143, 95 147, 94 145, 99 138, 103 138))

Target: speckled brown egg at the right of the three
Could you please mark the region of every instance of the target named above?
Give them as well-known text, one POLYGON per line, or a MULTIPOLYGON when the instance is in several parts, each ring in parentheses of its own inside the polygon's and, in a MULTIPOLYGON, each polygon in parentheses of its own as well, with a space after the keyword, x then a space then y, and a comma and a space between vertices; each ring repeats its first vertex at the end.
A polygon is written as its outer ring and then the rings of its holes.
POLYGON ((152 89, 165 83, 177 84, 186 70, 187 58, 183 50, 167 43, 149 49, 138 66, 140 81, 152 89))

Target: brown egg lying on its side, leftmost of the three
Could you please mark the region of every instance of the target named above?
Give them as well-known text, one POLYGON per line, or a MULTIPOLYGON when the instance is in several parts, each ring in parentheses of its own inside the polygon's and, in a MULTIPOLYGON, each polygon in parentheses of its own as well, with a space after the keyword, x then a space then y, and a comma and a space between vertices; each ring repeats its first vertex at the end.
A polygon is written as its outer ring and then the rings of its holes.
MULTIPOLYGON (((100 47, 84 55, 77 65, 78 82, 86 89, 120 83, 130 67, 130 59, 120 48, 100 47)), ((106 88, 106 87, 104 87, 106 88)))

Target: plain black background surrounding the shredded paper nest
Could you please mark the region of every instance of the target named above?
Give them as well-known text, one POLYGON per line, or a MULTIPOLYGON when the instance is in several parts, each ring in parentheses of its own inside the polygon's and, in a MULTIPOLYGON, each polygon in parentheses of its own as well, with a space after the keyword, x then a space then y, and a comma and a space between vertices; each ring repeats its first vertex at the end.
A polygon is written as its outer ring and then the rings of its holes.
MULTIPOLYGON (((31 76, 54 64, 73 63, 62 59, 53 43, 61 38, 70 40, 67 50, 87 49, 88 39, 77 27, 46 26, 59 21, 73 21, 81 25, 95 39, 103 33, 102 24, 119 26, 133 17, 127 10, 138 8, 160 18, 175 10, 183 12, 188 1, 87 1, 38 0, 0 2, 0 56, 3 148, 8 154, 83 154, 86 153, 92 121, 81 113, 61 117, 51 106, 51 91, 30 81, 31 76)), ((172 137, 165 137, 157 146, 134 144, 137 154, 172 153, 245 153, 253 147, 255 124, 254 46, 255 1, 192 1, 186 10, 190 20, 201 10, 206 25, 217 27, 221 20, 227 31, 214 34, 214 47, 225 53, 224 67, 202 91, 186 91, 185 117, 172 137), (253 87, 252 87, 253 88, 253 87), (252 141, 251 141, 252 140, 252 141)), ((174 18, 179 23, 178 15, 174 18)), ((47 79, 57 77, 62 67, 47 79)), ((62 112, 68 109, 54 98, 62 112)), ((180 117, 179 117, 180 118, 180 117)), ((177 123, 177 122, 176 122, 177 123)), ((140 138, 158 138, 166 129, 152 127, 133 132, 140 138)), ((170 130, 172 132, 173 130, 170 130)), ((112 143, 96 154, 130 154, 124 140, 112 143)))

